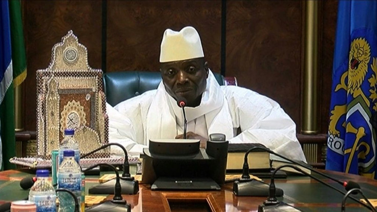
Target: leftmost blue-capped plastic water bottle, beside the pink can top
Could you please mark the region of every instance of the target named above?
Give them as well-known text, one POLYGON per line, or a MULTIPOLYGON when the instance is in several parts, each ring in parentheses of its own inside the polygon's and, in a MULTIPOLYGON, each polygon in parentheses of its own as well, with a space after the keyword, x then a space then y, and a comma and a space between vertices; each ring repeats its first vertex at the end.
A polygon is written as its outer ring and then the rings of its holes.
POLYGON ((56 193, 51 182, 48 181, 49 171, 45 169, 37 170, 37 181, 30 188, 29 201, 33 201, 37 206, 37 212, 56 211, 56 193))

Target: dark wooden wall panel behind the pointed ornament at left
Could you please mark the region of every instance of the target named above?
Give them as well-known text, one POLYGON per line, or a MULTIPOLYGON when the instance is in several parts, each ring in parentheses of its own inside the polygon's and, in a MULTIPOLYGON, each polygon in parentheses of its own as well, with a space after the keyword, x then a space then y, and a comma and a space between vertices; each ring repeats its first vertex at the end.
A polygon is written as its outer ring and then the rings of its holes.
POLYGON ((69 30, 88 48, 89 65, 101 66, 101 1, 24 1, 28 76, 24 82, 25 130, 36 130, 36 78, 46 69, 52 47, 69 30))

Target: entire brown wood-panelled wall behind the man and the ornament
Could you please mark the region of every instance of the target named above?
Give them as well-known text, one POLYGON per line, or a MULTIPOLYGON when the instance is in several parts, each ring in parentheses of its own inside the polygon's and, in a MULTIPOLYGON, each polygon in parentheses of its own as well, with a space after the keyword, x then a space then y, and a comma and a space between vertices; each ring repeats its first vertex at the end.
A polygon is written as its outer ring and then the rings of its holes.
MULTIPOLYGON (((225 75, 236 76, 239 86, 279 102, 300 133, 304 1, 107 1, 106 7, 107 72, 158 71, 163 31, 191 25, 212 71, 220 73, 225 65, 225 75)), ((327 133, 337 7, 338 1, 320 1, 320 133, 327 133)), ((51 49, 62 36, 73 30, 88 49, 89 65, 102 67, 102 1, 24 1, 23 12, 24 126, 35 131, 35 73, 48 67, 51 49)))

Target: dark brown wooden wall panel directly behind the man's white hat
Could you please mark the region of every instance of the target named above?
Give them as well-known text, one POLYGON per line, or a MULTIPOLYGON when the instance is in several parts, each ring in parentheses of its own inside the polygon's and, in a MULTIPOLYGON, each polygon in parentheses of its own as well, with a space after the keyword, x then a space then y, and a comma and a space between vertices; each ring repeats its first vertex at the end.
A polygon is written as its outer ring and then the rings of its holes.
POLYGON ((159 70, 165 29, 195 27, 220 72, 221 1, 108 1, 107 71, 159 70))

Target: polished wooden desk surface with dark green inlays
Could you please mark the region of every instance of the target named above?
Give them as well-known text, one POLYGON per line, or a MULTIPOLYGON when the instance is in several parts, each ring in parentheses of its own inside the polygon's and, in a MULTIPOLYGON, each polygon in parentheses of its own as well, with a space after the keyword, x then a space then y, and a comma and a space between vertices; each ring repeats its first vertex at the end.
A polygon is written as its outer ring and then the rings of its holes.
MULTIPOLYGON (((377 181, 365 177, 350 175, 338 172, 324 171, 326 174, 343 181, 358 182, 363 193, 369 199, 377 199, 377 181)), ((24 177, 33 176, 25 172, 25 169, 10 170, 0 172, 0 204, 26 198, 29 190, 19 187, 19 181, 24 177)), ((316 175, 317 176, 317 175, 316 175)), ((325 182, 341 189, 341 185, 329 179, 320 177, 325 182)), ((269 182, 268 179, 264 179, 269 182)), ((98 176, 86 178, 86 194, 90 186, 98 182, 98 176)), ((302 176, 289 176, 287 179, 276 180, 277 187, 284 190, 284 196, 278 198, 290 205, 296 206, 303 211, 340 211, 343 195, 336 190, 328 188, 315 180, 302 176)), ((123 198, 131 204, 132 211, 166 211, 166 198, 174 200, 178 197, 179 211, 208 211, 203 207, 197 206, 203 203, 203 199, 212 198, 215 200, 215 209, 219 211, 257 211, 266 197, 237 197, 232 193, 233 183, 222 186, 221 191, 202 191, 202 192, 174 192, 174 191, 152 191, 150 185, 140 185, 140 192, 136 195, 123 195, 123 198), (196 200, 193 200, 196 199, 196 200)), ((111 199, 112 196, 108 196, 111 199)), ((358 196, 358 199, 361 197, 358 196)), ((174 205, 174 201, 172 201, 174 205)), ((347 200, 346 211, 368 211, 360 204, 351 199, 347 200)))

